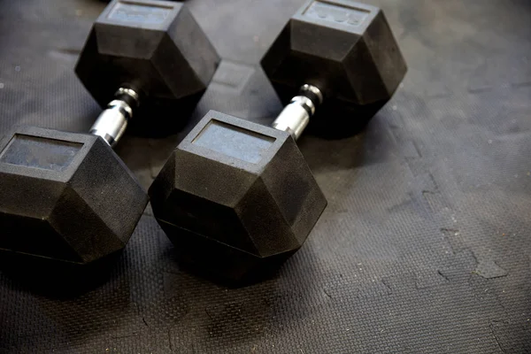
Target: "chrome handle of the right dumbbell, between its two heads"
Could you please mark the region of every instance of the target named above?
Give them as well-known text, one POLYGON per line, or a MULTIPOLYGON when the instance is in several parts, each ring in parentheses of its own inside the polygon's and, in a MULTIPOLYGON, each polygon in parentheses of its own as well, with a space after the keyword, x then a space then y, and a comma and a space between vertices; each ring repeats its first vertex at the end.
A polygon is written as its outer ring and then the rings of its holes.
POLYGON ((288 132, 297 140, 304 132, 304 128, 315 114, 315 109, 323 103, 321 91, 313 85, 303 85, 299 95, 291 99, 281 114, 274 119, 273 128, 288 132))

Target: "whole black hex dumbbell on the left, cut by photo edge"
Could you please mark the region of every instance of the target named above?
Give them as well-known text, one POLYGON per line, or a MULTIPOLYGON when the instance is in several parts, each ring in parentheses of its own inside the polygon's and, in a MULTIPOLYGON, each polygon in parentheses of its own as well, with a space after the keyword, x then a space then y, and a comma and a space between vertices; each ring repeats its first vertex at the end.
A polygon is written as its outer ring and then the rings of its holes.
POLYGON ((0 142, 4 256, 85 266, 123 249, 148 196, 112 146, 129 119, 185 119, 181 104, 196 104, 218 63, 183 4, 112 1, 75 68, 106 104, 90 135, 18 127, 0 142))

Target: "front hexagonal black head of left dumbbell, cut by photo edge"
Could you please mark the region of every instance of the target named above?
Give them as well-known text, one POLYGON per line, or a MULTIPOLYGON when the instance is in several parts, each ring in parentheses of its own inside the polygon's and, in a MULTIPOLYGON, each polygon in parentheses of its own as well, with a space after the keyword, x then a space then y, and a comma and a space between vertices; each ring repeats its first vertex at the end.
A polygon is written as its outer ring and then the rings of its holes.
POLYGON ((148 197, 102 139, 37 127, 6 136, 0 142, 4 255, 87 265, 124 248, 148 197))

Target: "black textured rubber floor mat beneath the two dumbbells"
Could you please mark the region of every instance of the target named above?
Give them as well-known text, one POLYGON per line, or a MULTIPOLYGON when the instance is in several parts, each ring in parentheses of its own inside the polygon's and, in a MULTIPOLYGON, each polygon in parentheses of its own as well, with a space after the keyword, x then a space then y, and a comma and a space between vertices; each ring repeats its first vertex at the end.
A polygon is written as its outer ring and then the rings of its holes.
MULTIPOLYGON (((531 351, 531 5, 370 3, 409 71, 363 134, 300 140, 328 207, 280 273, 226 289, 184 272, 148 209, 81 295, 0 274, 0 352, 531 351)), ((258 60, 300 4, 189 2, 224 59, 190 127, 210 109, 272 121, 258 60)), ((0 2, 0 133, 87 131, 100 109, 73 65, 103 8, 0 2)), ((117 151, 148 187, 184 134, 117 151)))

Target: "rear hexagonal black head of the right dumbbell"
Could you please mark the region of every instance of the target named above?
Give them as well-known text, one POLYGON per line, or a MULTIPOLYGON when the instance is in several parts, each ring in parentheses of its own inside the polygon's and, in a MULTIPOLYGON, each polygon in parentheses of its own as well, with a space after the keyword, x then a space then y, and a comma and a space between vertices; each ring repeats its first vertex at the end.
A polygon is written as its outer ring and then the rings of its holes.
POLYGON ((350 120, 372 117, 407 71, 381 9, 350 0, 308 1, 261 64, 284 104, 304 84, 319 88, 325 127, 344 119, 344 110, 357 113, 350 120))

